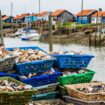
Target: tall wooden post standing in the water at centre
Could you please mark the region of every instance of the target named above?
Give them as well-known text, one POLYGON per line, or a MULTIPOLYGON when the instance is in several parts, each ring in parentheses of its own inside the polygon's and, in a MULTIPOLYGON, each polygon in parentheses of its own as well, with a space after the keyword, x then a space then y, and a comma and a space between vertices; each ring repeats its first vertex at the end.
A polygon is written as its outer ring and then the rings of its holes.
POLYGON ((52 41, 52 16, 49 14, 49 51, 53 51, 53 41, 52 41))

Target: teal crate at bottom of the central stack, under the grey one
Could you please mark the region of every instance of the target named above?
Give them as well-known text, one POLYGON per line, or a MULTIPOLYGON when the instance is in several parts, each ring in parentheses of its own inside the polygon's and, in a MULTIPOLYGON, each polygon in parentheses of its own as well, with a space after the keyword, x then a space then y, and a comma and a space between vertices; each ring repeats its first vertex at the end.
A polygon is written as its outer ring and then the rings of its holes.
POLYGON ((32 100, 33 101, 39 101, 39 100, 51 100, 55 99, 57 97, 57 94, 59 92, 50 92, 50 93, 44 93, 39 95, 33 95, 32 100))

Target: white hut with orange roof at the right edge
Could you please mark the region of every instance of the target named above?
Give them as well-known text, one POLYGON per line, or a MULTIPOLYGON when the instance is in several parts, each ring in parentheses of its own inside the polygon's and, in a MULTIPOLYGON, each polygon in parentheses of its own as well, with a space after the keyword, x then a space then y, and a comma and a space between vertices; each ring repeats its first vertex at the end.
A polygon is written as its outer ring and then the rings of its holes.
POLYGON ((105 11, 99 11, 92 15, 91 23, 105 23, 105 11))

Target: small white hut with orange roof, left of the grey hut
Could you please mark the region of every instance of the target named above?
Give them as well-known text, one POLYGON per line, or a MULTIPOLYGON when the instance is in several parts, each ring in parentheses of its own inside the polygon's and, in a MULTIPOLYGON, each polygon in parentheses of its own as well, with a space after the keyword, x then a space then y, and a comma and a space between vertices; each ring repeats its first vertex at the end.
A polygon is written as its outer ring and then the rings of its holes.
POLYGON ((50 12, 44 11, 44 12, 37 14, 37 20, 48 21, 49 20, 49 13, 50 12))

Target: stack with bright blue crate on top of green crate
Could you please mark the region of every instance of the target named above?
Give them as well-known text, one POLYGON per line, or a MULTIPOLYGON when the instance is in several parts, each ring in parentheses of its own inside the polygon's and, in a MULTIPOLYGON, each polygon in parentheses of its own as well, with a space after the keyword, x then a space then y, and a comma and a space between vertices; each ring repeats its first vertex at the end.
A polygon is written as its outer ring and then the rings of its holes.
POLYGON ((54 67, 62 72, 62 76, 58 78, 59 91, 62 95, 67 94, 65 85, 88 83, 92 80, 95 72, 86 68, 94 56, 85 54, 53 54, 53 56, 56 58, 54 67), (80 70, 85 72, 63 75, 64 71, 79 72, 80 70))

